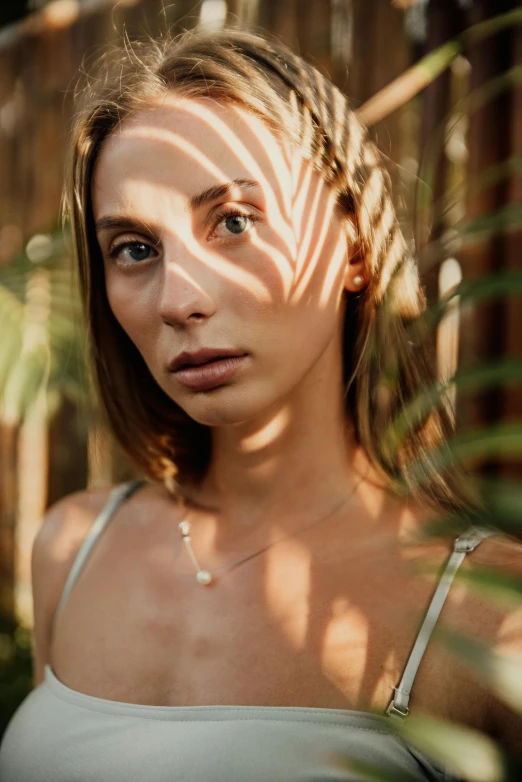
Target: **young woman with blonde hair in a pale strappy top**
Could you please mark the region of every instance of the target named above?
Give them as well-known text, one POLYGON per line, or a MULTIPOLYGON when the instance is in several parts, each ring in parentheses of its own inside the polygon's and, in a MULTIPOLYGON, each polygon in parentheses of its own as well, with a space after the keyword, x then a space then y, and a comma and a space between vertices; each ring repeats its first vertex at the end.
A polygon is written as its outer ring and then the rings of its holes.
MULTIPOLYGON (((376 149, 262 37, 186 33, 109 60, 76 116, 67 203, 101 397, 149 481, 45 519, 38 686, 2 780, 449 779, 393 735, 413 682, 415 712, 518 751, 519 718, 441 645, 422 654, 443 585, 411 560, 440 567, 452 543, 402 543, 465 499, 414 474, 443 410, 383 439, 431 370, 376 149)), ((520 619, 462 586, 443 616, 520 648, 520 619)))

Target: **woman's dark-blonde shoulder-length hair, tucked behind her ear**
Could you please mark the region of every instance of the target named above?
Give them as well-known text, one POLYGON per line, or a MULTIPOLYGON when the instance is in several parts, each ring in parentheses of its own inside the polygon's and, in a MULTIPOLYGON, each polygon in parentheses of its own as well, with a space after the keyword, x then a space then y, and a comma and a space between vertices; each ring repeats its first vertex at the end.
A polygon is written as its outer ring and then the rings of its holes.
POLYGON ((443 406, 412 422, 394 450, 383 434, 407 401, 434 380, 429 345, 411 344, 408 325, 425 309, 418 270, 392 204, 388 175, 347 98, 314 67, 279 42, 236 29, 186 32, 133 43, 102 58, 79 96, 71 134, 66 204, 72 223, 95 377, 113 432, 149 477, 182 487, 209 463, 207 427, 191 420, 163 393, 114 318, 96 241, 91 180, 100 148, 132 112, 174 91, 209 97, 253 112, 293 140, 338 196, 354 227, 369 284, 346 308, 346 409, 355 436, 392 486, 411 484, 429 504, 459 503, 451 478, 410 468, 445 442, 450 420, 443 406), (356 339, 353 339, 353 334, 356 339), (394 382, 386 371, 395 368, 394 382))

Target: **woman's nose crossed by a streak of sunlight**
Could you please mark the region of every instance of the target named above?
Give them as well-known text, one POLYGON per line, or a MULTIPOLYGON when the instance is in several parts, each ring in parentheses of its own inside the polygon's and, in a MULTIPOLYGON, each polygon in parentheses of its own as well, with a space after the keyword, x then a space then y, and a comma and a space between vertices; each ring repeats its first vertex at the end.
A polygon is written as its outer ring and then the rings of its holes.
POLYGON ((202 260, 189 258, 186 249, 165 255, 158 312, 170 326, 189 326, 211 318, 216 311, 212 282, 202 260))

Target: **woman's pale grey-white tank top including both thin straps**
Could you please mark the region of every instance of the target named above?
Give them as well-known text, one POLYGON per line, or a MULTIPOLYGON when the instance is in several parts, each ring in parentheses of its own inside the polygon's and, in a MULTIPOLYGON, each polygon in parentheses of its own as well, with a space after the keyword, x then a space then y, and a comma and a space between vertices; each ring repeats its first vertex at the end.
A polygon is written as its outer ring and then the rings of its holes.
MULTIPOLYGON (((78 551, 56 616, 114 512, 141 485, 113 490, 78 551)), ((72 690, 47 665, 44 681, 4 734, 0 782, 360 782, 365 766, 404 782, 456 780, 393 728, 408 714, 415 674, 453 577, 489 534, 473 529, 455 541, 386 714, 121 703, 72 690)))

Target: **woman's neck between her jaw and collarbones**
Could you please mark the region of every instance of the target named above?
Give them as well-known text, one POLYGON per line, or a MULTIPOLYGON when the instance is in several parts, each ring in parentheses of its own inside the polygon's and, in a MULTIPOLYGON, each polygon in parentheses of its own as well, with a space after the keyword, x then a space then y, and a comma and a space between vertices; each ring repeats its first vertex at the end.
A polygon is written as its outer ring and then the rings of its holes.
POLYGON ((231 538, 243 537, 328 514, 365 475, 375 478, 346 420, 341 367, 325 361, 262 416, 213 429, 210 467, 193 499, 219 514, 231 538))

